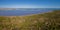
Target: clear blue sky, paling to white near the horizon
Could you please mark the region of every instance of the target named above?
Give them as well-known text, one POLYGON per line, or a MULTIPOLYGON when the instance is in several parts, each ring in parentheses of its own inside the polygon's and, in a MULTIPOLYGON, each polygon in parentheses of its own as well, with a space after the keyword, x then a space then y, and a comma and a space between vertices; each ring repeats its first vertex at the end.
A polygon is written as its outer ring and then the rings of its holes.
POLYGON ((60 8, 60 0, 0 0, 0 8, 60 8))

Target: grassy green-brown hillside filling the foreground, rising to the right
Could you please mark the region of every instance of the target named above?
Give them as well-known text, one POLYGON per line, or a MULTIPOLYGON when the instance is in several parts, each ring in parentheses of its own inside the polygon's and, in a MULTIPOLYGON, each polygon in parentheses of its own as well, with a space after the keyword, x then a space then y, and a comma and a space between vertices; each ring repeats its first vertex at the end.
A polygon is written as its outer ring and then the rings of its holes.
POLYGON ((0 16, 0 30, 60 30, 60 10, 31 16, 0 16))

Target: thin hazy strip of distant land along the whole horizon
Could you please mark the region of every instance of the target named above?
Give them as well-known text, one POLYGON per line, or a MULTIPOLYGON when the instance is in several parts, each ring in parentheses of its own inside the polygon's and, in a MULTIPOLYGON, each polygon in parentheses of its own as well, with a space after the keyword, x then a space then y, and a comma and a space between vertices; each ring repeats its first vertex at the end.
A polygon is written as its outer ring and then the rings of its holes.
POLYGON ((0 8, 0 10, 51 10, 51 9, 60 9, 60 8, 0 8))

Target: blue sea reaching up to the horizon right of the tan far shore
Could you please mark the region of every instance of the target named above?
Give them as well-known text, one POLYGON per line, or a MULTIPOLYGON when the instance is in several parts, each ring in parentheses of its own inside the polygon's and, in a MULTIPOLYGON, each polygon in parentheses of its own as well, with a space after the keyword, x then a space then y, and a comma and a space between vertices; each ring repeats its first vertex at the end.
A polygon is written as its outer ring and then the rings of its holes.
POLYGON ((38 13, 46 13, 54 10, 60 10, 60 8, 22 8, 16 10, 0 10, 0 16, 24 16, 38 13))

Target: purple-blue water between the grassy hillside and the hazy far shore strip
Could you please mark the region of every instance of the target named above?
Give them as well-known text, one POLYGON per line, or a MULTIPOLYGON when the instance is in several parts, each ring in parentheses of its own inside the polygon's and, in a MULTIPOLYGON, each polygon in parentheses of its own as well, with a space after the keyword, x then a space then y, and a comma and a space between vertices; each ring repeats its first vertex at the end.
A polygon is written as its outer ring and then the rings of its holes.
POLYGON ((45 13, 53 11, 54 9, 40 9, 40 10, 0 10, 0 16, 21 16, 38 13, 45 13))

